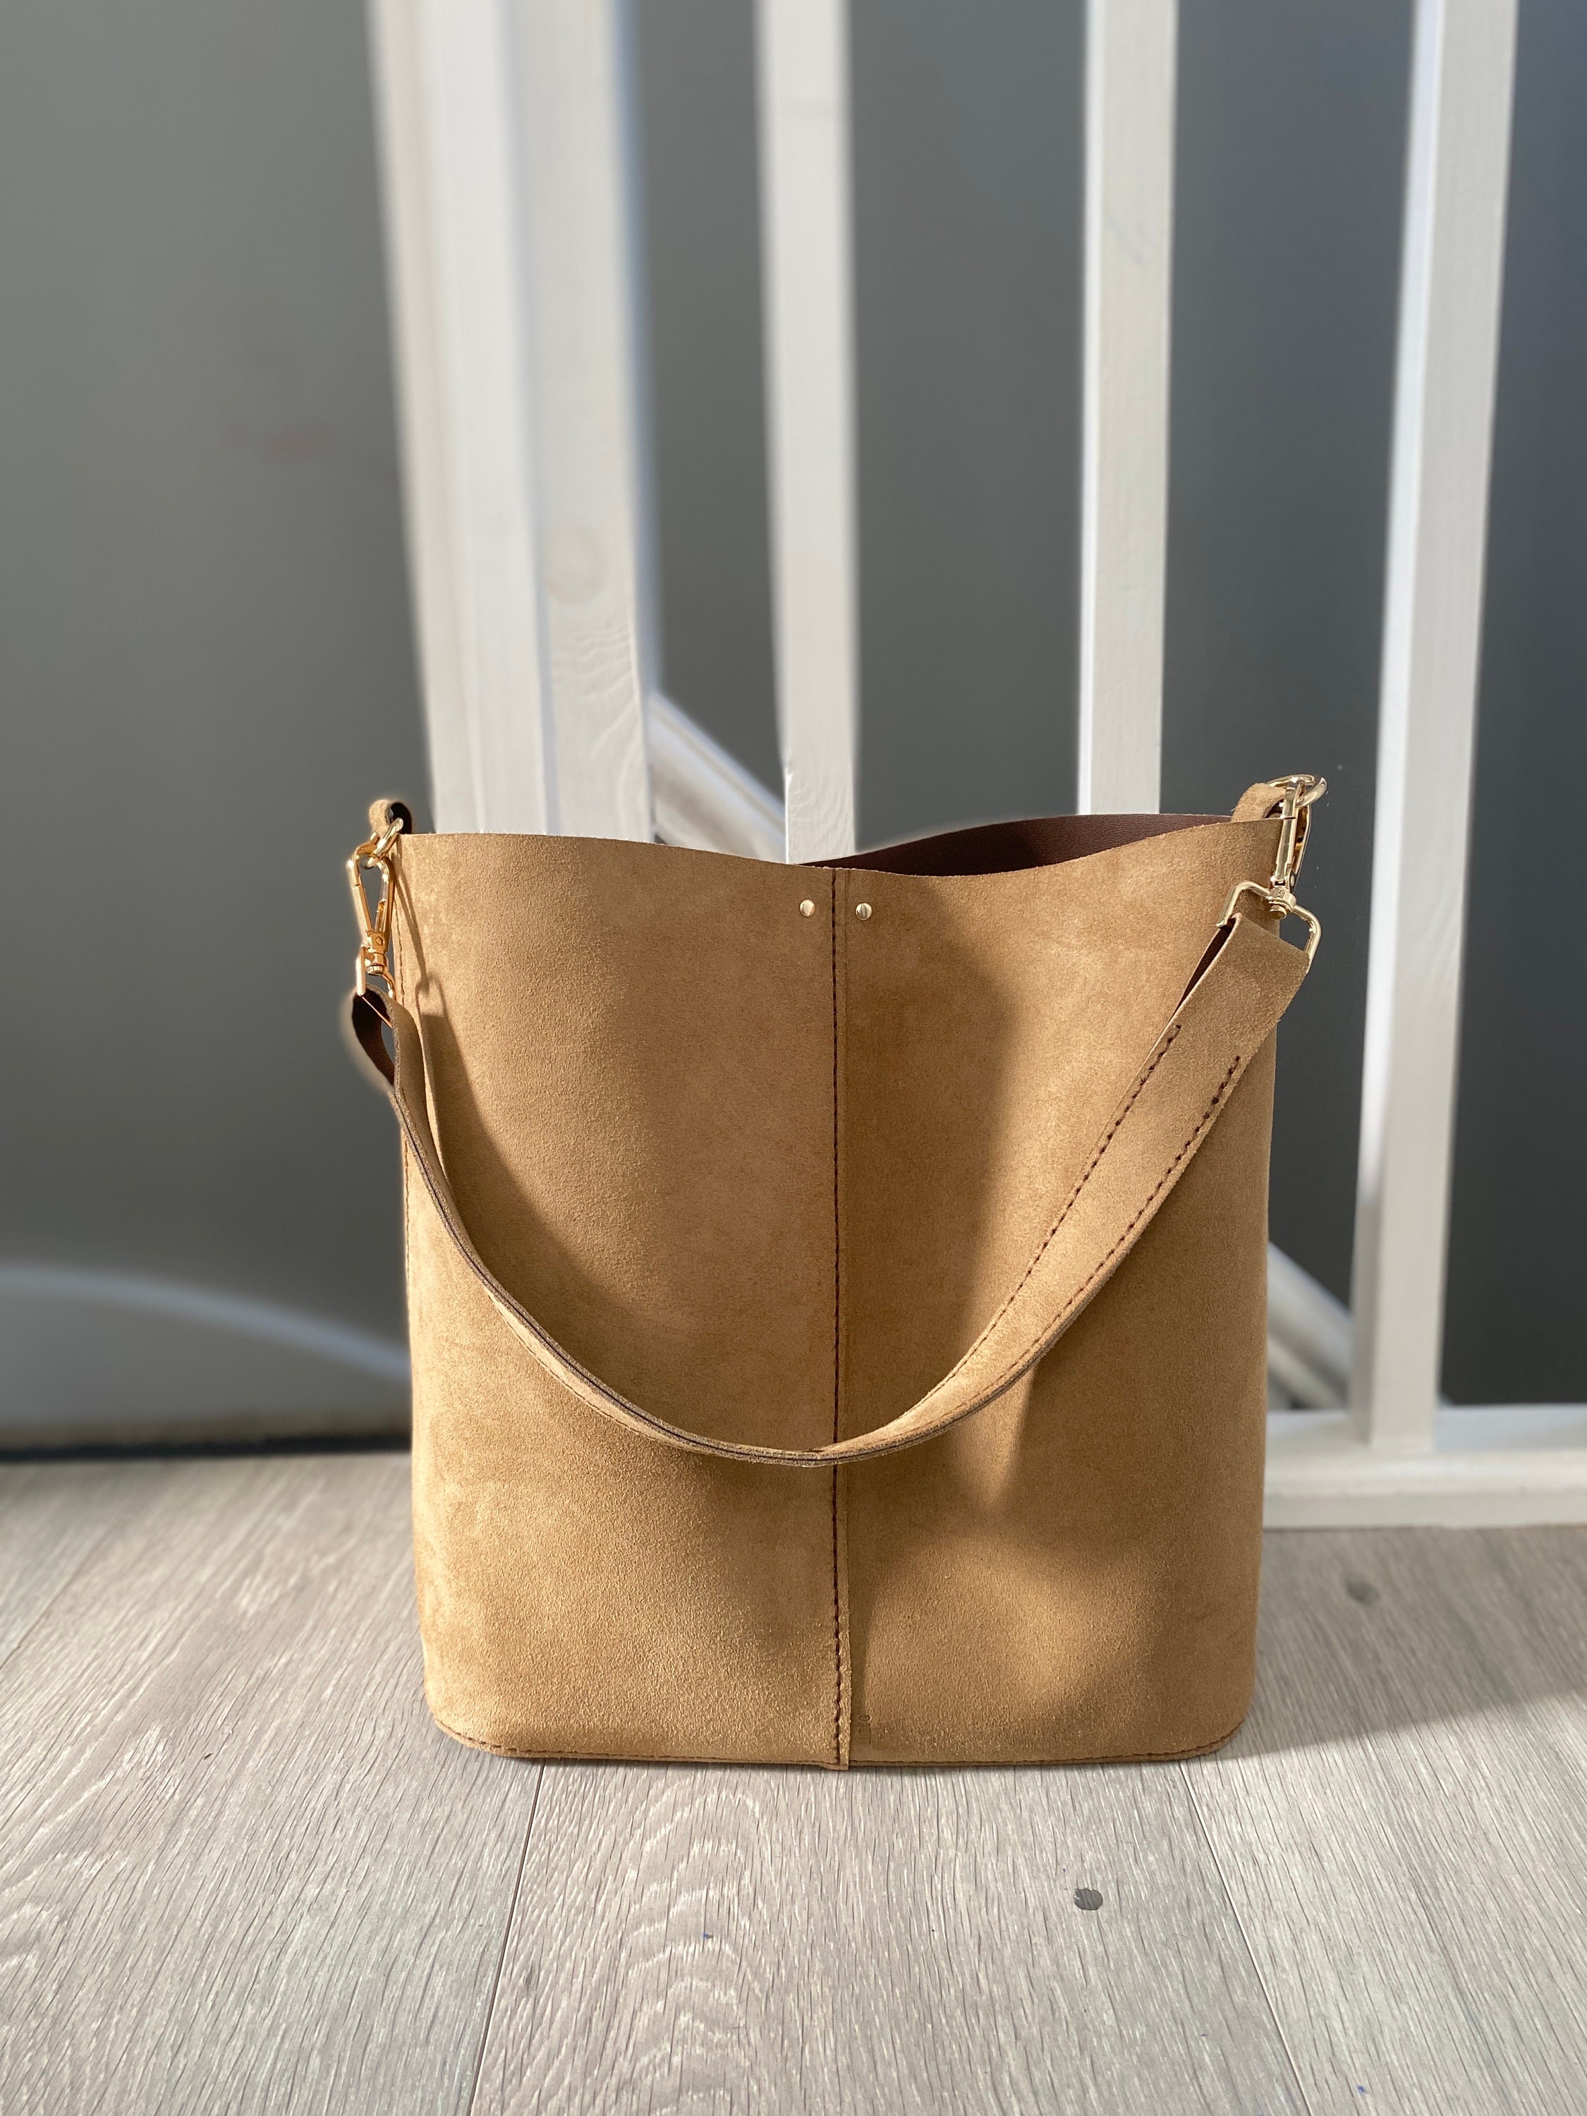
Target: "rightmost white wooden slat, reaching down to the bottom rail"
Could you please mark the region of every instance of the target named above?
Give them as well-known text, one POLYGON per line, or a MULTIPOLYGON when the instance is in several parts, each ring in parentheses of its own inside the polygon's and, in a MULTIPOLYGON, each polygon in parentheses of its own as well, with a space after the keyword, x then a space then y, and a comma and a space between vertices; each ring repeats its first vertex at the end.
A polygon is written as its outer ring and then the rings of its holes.
POLYGON ((1433 1445, 1515 0, 1418 0, 1388 521, 1350 1401, 1433 1445))

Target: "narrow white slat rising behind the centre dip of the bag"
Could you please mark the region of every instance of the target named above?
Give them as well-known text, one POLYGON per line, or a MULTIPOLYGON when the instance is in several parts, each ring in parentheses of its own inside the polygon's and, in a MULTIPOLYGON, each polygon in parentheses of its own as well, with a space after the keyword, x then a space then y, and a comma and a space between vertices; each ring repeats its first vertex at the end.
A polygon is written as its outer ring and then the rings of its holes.
POLYGON ((855 849, 859 607, 846 0, 758 0, 777 717, 787 857, 855 849))

